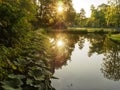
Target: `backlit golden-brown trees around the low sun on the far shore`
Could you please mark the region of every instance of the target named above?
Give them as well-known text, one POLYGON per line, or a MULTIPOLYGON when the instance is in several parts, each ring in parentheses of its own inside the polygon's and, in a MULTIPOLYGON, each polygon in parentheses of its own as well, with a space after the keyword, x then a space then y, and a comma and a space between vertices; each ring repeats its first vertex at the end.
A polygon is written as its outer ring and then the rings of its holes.
POLYGON ((63 26, 73 24, 75 10, 71 0, 38 0, 37 27, 55 27, 63 23, 63 26), (58 12, 58 6, 63 6, 63 12, 58 12), (72 18, 71 18, 72 17, 72 18), (59 25, 58 25, 59 24, 59 25))

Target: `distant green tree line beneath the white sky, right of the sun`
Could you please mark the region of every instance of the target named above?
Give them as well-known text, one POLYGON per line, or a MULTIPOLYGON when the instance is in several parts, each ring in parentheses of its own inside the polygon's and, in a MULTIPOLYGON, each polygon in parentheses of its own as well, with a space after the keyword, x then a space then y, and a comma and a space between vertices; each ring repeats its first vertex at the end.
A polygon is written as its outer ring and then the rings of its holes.
POLYGON ((108 4, 101 4, 97 8, 91 5, 91 16, 85 16, 81 9, 76 14, 75 25, 79 27, 120 27, 120 0, 108 0, 108 4))

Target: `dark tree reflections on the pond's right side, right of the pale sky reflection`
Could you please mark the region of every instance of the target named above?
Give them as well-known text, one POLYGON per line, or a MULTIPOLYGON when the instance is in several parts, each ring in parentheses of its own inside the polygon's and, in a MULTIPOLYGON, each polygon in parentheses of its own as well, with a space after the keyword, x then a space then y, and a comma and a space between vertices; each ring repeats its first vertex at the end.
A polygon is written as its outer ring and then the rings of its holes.
POLYGON ((105 58, 101 68, 104 77, 111 80, 120 80, 120 45, 101 35, 90 34, 86 38, 91 44, 88 52, 89 56, 94 53, 104 53, 105 58))

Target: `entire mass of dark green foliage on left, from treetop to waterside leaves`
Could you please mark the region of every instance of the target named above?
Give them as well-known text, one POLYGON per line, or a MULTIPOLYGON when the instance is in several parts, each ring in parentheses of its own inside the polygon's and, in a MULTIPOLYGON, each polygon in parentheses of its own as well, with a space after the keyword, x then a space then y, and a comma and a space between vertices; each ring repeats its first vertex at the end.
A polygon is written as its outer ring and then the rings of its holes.
POLYGON ((0 89, 50 90, 46 36, 31 31, 34 0, 0 1, 0 89))

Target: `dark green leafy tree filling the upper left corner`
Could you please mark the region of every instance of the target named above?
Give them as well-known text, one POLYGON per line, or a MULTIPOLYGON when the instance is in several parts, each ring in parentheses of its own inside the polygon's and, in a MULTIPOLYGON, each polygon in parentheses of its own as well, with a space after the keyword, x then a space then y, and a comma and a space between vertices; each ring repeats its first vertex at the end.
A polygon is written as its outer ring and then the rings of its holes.
POLYGON ((0 2, 0 44, 13 47, 24 40, 26 33, 31 30, 31 21, 35 15, 34 3, 34 0, 0 2))

